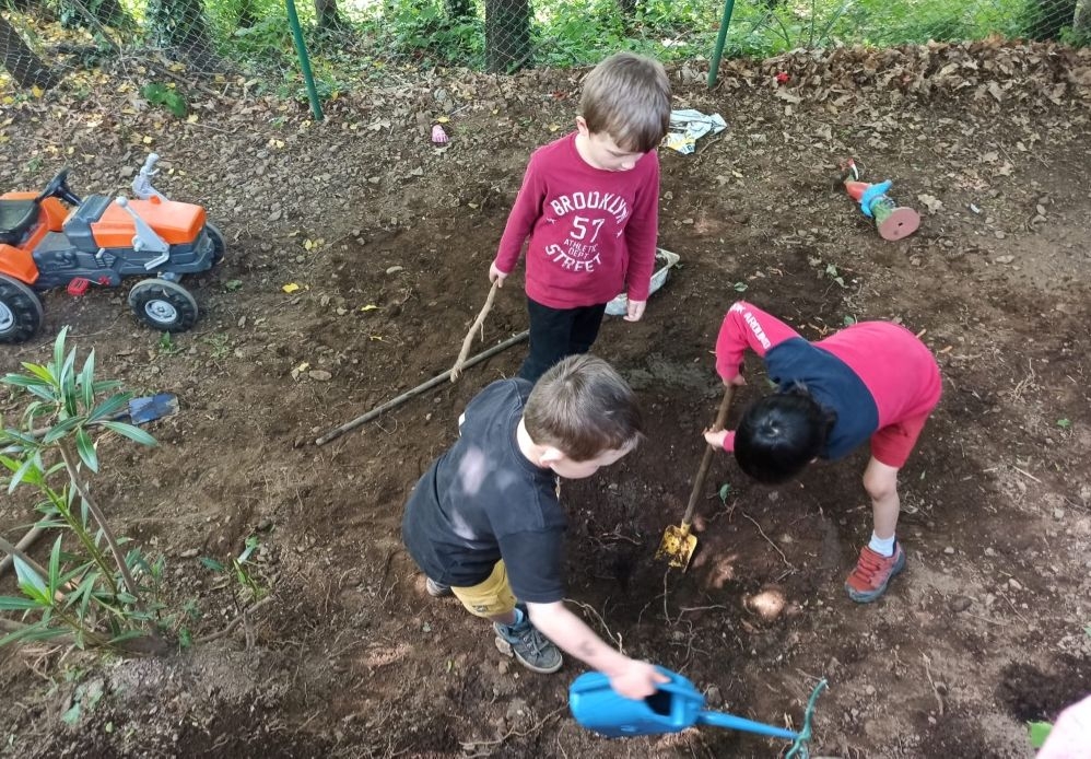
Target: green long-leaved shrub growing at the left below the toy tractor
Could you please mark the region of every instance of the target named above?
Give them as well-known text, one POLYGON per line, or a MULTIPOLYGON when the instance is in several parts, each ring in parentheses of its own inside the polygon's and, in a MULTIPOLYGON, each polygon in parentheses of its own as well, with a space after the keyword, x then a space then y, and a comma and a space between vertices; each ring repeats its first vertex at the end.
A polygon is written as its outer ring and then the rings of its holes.
MULTIPOLYGON (((117 538, 90 494, 89 472, 99 470, 99 443, 108 437, 140 445, 155 440, 132 424, 117 421, 131 395, 119 383, 95 378, 95 352, 78 366, 77 350, 66 349, 66 327, 54 343, 52 360, 23 362, 25 374, 8 374, 0 384, 25 394, 22 427, 0 430, 0 482, 9 494, 24 488, 38 499, 36 526, 59 530, 48 567, 38 567, 10 544, 22 596, 0 597, 0 609, 23 612, 31 621, 0 639, 49 640, 71 635, 79 647, 121 646, 145 637, 161 608, 148 603, 148 581, 162 575, 140 552, 122 554, 117 538), (73 547, 63 550, 64 536, 73 547)), ((154 634, 152 634, 154 638, 154 634)))

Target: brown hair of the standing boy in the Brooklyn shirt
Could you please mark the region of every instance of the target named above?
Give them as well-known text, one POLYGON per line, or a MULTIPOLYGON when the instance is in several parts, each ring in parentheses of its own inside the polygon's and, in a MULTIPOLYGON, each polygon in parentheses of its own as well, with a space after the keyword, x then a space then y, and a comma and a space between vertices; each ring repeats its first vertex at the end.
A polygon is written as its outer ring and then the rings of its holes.
POLYGON ((670 125, 670 80, 662 65, 615 52, 584 80, 579 112, 593 135, 606 132, 622 150, 648 153, 670 125))

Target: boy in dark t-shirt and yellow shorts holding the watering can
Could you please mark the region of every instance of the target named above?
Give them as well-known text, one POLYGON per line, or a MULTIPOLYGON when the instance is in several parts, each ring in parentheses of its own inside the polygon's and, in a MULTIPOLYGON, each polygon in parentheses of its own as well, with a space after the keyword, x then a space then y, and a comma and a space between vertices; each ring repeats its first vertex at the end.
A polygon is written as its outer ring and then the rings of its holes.
POLYGON ((491 620, 501 652, 553 673, 563 649, 634 699, 667 678, 611 649, 565 607, 558 477, 613 464, 642 427, 632 389, 591 355, 555 364, 532 389, 525 380, 494 382, 467 406, 459 440, 417 483, 402 519, 429 593, 453 593, 491 620))

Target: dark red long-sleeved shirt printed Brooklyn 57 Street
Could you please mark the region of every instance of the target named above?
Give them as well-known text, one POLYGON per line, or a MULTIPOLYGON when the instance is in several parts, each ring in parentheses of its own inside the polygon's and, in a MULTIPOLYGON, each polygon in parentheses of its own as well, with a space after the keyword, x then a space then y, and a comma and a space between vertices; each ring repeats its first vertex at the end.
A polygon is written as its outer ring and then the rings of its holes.
POLYGON ((507 218, 496 268, 511 273, 527 246, 527 295, 551 308, 648 300, 659 225, 659 156, 627 172, 588 165, 576 133, 530 156, 507 218))

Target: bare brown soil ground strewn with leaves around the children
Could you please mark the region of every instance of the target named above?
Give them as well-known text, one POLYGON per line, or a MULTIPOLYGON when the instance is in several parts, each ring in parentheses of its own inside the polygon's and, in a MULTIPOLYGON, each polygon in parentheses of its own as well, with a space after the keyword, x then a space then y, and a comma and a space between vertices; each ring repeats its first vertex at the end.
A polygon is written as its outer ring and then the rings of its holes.
MULTIPOLYGON (((403 501, 469 398, 511 375, 524 347, 314 444, 449 367, 527 156, 572 124, 578 73, 407 74, 342 95, 318 125, 303 104, 233 82, 197 95, 196 122, 106 75, 85 100, 5 106, 4 188, 43 186, 68 164, 78 191, 121 190, 150 137, 169 170, 160 189, 203 202, 224 231, 225 260, 189 280, 202 319, 171 346, 122 291, 52 292, 43 332, 4 347, 0 369, 44 360, 71 325, 104 377, 177 394, 180 412, 150 427, 156 448, 102 452, 97 492, 120 532, 167 556, 173 597, 203 611, 195 634, 236 615, 201 556, 257 535, 272 600, 249 641, 241 626, 165 658, 0 651, 0 755, 783 750, 712 728, 598 738, 567 713, 577 662, 523 672, 457 603, 424 593, 400 544, 403 501), (446 114, 451 141, 437 150, 426 135, 446 114), (73 699, 85 708, 68 725, 73 699)), ((660 244, 682 266, 643 322, 609 320, 595 348, 638 389, 652 429, 619 465, 563 486, 575 608, 752 719, 798 726, 829 678, 817 755, 1031 756, 1023 721, 1091 690, 1091 51, 837 50, 735 61, 714 91, 697 69, 672 78, 676 107, 720 113, 729 129, 693 155, 662 153, 660 244), (834 182, 849 155, 867 178, 894 179, 923 214, 917 234, 888 243, 868 225, 834 182), (939 358, 945 397, 901 479, 907 571, 873 605, 842 589, 870 529, 866 451, 775 490, 718 457, 692 567, 653 559, 683 511, 719 395, 716 330, 740 296, 809 338, 899 319, 939 358)), ((511 284, 488 345, 525 328, 511 284)), ((736 417, 762 387, 751 378, 736 417)), ((0 397, 5 422, 21 402, 0 397)), ((0 502, 9 537, 33 518, 17 494, 0 502)))

